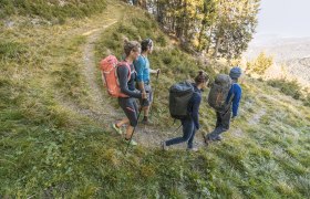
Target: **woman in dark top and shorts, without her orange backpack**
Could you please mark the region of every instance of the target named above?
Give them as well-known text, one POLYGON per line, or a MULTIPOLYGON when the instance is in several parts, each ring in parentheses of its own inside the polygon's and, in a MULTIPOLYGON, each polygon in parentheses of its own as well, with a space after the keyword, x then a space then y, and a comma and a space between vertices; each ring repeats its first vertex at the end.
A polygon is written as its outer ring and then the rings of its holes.
MULTIPOLYGON (((124 97, 118 97, 118 104, 124 111, 126 118, 123 118, 121 122, 113 124, 112 127, 122 135, 121 126, 127 124, 126 128, 126 135, 125 140, 130 142, 132 134, 134 132, 135 126, 137 125, 137 104, 135 98, 143 98, 144 101, 147 101, 147 94, 138 92, 135 88, 135 78, 136 78, 136 72, 134 70, 133 61, 136 60, 141 52, 141 45, 136 41, 127 41, 125 40, 124 44, 124 52, 125 52, 125 59, 124 62, 126 62, 131 69, 126 66, 126 64, 118 65, 117 66, 117 76, 120 81, 120 87, 121 92, 125 94, 124 97), (130 77, 128 77, 128 73, 130 77)), ((137 145, 135 140, 131 140, 131 145, 137 145)))

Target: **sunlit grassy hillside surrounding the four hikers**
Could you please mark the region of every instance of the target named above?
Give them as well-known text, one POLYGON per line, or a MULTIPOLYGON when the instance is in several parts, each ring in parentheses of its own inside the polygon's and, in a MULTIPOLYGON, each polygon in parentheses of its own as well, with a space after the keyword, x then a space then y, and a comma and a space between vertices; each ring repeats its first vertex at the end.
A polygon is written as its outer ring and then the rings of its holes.
MULTIPOLYGON (((154 39, 151 64, 163 74, 156 84, 156 126, 151 127, 156 132, 147 140, 153 146, 156 137, 180 134, 166 134, 176 126, 167 88, 198 69, 213 76, 215 65, 182 52, 141 10, 108 4, 103 13, 64 24, 24 18, 14 19, 13 27, 1 24, 0 196, 309 198, 309 107, 248 77, 241 81, 240 117, 224 142, 200 146, 196 154, 163 153, 141 143, 124 156, 126 145, 108 127, 122 112, 101 86, 95 63, 108 53, 120 56, 123 35, 154 39)), ((213 128, 215 114, 205 101, 200 115, 203 130, 213 128)))

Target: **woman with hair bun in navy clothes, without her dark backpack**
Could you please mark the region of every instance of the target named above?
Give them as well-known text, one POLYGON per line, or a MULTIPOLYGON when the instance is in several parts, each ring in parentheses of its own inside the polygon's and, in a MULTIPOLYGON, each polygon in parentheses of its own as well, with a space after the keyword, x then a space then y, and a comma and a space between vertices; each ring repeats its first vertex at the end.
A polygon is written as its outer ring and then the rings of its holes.
POLYGON ((198 112, 202 102, 202 92, 207 86, 208 76, 203 71, 199 71, 198 75, 195 77, 195 83, 192 84, 194 87, 194 93, 187 105, 187 116, 180 119, 183 126, 183 137, 176 137, 166 142, 162 142, 162 147, 164 150, 167 146, 187 142, 187 149, 197 151, 197 148, 193 146, 194 137, 196 130, 199 129, 198 112))

